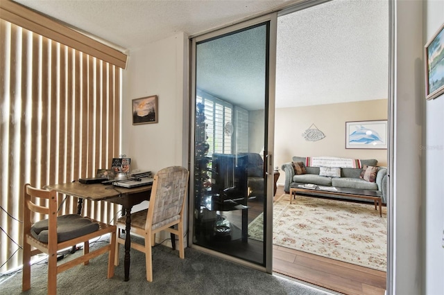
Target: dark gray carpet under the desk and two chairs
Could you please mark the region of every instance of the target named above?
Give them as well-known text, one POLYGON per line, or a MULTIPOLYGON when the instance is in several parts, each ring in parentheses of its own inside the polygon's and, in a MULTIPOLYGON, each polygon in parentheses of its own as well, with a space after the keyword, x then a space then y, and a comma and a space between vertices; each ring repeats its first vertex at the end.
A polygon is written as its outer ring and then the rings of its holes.
MULTIPOLYGON (((121 248, 123 249, 123 248, 121 248)), ((123 252, 114 277, 106 278, 108 255, 58 275, 58 294, 329 294, 321 289, 272 276, 234 262, 185 249, 153 248, 153 282, 146 281, 144 254, 131 250, 130 280, 123 281, 123 252)), ((64 258, 74 258, 76 253, 64 258)), ((46 260, 31 267, 31 290, 22 293, 22 271, 0 280, 0 294, 46 294, 46 260)))

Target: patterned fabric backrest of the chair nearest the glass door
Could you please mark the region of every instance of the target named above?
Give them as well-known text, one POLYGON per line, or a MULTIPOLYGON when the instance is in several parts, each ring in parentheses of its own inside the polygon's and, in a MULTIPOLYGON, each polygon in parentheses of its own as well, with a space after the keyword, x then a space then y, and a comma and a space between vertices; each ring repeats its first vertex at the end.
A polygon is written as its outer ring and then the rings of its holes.
POLYGON ((189 171, 171 166, 157 172, 153 180, 146 228, 157 229, 179 220, 184 213, 189 171))

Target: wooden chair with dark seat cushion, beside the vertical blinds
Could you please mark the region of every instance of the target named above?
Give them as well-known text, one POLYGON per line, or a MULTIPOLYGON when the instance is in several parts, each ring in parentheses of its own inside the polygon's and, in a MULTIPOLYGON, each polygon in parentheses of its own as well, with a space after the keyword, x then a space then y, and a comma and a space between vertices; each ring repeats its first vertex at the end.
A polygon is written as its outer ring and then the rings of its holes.
POLYGON ((40 190, 25 184, 23 208, 23 291, 31 289, 30 262, 31 257, 38 253, 48 254, 48 294, 57 293, 57 275, 62 271, 80 265, 80 263, 87 265, 89 259, 106 252, 109 252, 107 277, 112 278, 114 276, 116 226, 97 222, 77 214, 58 216, 57 211, 56 190, 40 190), (40 199, 40 204, 35 199, 40 199), (41 205, 45 203, 47 206, 41 205), (32 212, 48 215, 49 217, 32 224, 32 212), (110 243, 89 252, 89 240, 107 233, 111 235, 110 243), (76 246, 79 243, 83 243, 83 255, 57 265, 57 252, 76 246))

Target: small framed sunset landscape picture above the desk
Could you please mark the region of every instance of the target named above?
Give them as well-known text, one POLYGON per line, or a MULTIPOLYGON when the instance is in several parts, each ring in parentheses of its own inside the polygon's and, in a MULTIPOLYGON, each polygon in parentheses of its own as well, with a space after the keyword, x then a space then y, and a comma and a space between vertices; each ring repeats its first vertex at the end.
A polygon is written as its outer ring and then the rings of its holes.
POLYGON ((133 99, 133 125, 157 123, 157 96, 133 99))

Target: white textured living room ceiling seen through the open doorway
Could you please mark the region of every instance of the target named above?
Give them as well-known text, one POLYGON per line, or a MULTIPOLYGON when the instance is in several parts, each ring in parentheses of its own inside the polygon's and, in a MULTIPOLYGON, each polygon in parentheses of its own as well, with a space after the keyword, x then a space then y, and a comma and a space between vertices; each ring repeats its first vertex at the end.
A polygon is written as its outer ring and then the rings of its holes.
POLYGON ((388 97, 388 1, 335 0, 278 19, 276 107, 388 97))

